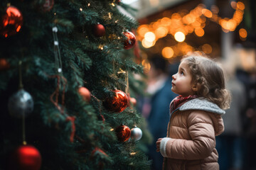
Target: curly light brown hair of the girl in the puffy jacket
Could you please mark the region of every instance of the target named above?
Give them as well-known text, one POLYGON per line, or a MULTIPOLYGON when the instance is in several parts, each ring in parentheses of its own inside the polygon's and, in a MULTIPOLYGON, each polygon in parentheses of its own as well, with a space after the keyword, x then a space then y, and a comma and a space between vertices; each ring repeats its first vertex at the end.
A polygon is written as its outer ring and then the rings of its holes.
POLYGON ((230 92, 225 89, 223 69, 213 60, 201 55, 183 57, 190 68, 192 83, 197 84, 197 95, 217 104, 222 109, 230 107, 230 92))

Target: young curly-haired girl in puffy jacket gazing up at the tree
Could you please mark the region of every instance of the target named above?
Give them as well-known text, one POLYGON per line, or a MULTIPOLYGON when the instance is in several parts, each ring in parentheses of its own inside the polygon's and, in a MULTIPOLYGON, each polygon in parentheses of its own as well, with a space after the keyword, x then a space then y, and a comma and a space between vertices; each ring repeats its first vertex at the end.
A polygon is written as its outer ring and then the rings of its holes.
POLYGON ((215 136, 224 131, 221 115, 229 108, 223 70, 206 57, 181 60, 171 90, 180 96, 170 105, 167 137, 156 142, 163 169, 218 170, 215 136))

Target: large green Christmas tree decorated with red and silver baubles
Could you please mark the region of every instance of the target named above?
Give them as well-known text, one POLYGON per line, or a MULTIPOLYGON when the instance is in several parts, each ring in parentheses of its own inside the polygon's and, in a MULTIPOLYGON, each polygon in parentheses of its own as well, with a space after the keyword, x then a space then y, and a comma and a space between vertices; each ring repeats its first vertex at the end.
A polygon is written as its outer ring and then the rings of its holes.
POLYGON ((0 169, 149 169, 118 0, 1 0, 0 169))

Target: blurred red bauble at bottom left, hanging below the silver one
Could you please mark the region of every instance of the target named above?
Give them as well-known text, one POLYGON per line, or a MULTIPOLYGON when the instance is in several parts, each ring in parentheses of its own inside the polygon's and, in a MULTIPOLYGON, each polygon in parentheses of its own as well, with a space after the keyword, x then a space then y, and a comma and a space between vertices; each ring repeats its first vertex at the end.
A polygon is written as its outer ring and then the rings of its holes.
POLYGON ((18 147, 9 160, 10 169, 16 170, 39 170, 41 162, 40 152, 31 145, 18 147))

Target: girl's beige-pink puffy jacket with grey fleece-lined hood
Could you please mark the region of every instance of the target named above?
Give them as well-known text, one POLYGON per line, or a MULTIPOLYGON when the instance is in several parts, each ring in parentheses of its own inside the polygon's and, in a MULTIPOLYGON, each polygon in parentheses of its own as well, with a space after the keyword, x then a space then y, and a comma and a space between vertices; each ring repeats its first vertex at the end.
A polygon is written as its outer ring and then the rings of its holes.
POLYGON ((215 136, 224 131, 224 113, 203 98, 188 101, 171 113, 167 137, 160 144, 163 169, 218 170, 215 136))

